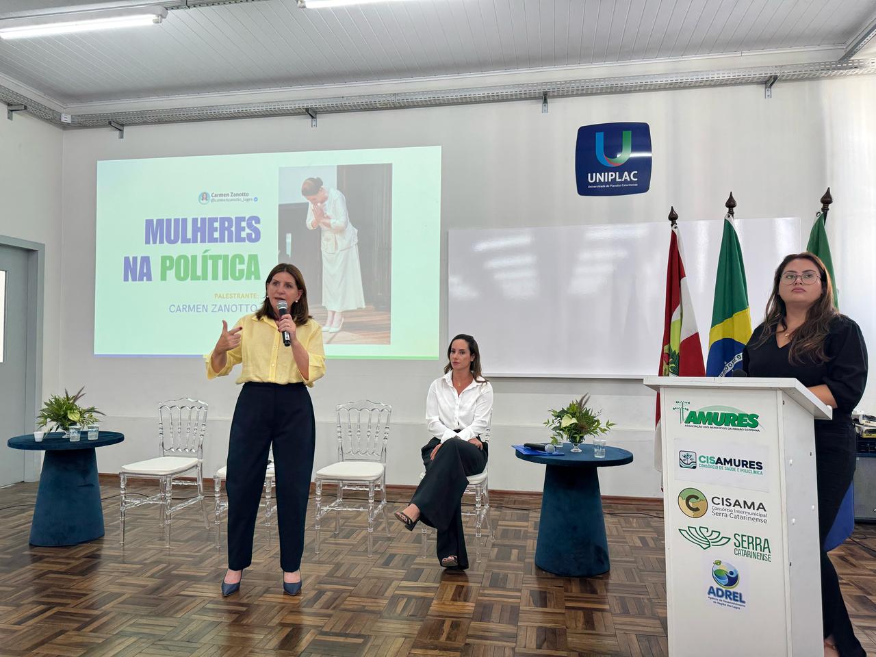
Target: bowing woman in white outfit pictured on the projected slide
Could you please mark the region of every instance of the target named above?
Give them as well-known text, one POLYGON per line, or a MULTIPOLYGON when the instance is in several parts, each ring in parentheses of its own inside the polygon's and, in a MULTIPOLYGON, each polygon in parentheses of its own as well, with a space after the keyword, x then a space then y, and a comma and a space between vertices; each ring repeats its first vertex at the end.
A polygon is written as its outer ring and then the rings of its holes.
POLYGON ((339 190, 323 187, 321 178, 308 178, 301 185, 301 195, 309 203, 307 228, 322 231, 322 305, 329 311, 322 330, 337 333, 344 311, 365 307, 358 233, 339 190))

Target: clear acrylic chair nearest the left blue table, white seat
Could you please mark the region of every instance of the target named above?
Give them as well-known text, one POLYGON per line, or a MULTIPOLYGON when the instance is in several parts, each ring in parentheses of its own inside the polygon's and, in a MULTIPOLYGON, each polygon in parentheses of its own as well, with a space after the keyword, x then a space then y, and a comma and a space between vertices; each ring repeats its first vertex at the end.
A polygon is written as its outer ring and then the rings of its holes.
POLYGON ((139 505, 159 505, 159 522, 170 546, 170 522, 173 514, 187 506, 200 504, 204 526, 209 529, 207 506, 204 504, 203 443, 207 430, 206 402, 198 399, 172 399, 159 404, 159 454, 157 458, 128 463, 118 473, 120 483, 119 542, 124 545, 125 512, 139 505), (182 479, 180 477, 192 477, 182 479), (128 499, 128 477, 157 479, 157 494, 128 499), (173 504, 173 484, 196 486, 197 492, 178 505, 173 504))

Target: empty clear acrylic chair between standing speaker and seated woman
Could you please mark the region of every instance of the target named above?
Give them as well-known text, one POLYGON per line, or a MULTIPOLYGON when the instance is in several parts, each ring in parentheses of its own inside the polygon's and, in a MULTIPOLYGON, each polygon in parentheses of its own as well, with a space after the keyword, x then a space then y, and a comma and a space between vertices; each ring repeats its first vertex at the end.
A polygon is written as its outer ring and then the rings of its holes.
POLYGON ((322 518, 335 512, 335 534, 341 531, 341 512, 368 512, 368 556, 374 550, 374 518, 383 513, 386 535, 390 536, 386 519, 386 443, 392 406, 369 399, 358 399, 335 406, 337 419, 337 463, 316 471, 316 548, 320 554, 322 518), (335 484, 337 497, 329 505, 322 505, 322 484, 335 484), (347 504, 345 491, 368 491, 368 504, 347 504), (375 493, 380 501, 374 504, 375 493))

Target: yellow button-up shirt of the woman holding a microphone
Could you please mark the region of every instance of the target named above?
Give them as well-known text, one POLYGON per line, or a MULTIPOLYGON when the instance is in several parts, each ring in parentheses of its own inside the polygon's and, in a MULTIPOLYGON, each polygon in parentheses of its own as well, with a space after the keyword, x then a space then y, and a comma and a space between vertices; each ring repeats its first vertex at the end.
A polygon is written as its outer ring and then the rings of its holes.
POLYGON ((207 361, 207 378, 223 377, 238 363, 244 364, 243 371, 237 378, 238 384, 255 381, 276 384, 305 383, 313 386, 314 381, 326 373, 322 329, 313 318, 295 328, 298 342, 304 345, 310 356, 307 378, 301 376, 292 349, 283 344, 283 336, 277 330, 276 321, 267 316, 257 320, 253 313, 237 320, 235 327, 238 326, 244 327, 240 332, 240 344, 227 352, 228 362, 222 371, 213 371, 213 365, 210 364, 212 351, 204 356, 207 361))

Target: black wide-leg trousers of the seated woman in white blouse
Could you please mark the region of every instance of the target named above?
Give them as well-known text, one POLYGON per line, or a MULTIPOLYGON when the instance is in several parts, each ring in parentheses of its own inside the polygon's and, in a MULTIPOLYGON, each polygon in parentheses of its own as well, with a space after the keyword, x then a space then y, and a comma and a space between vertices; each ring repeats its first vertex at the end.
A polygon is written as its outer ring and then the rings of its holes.
POLYGON ((480 474, 487 467, 487 443, 484 442, 484 449, 478 449, 462 438, 451 438, 430 460, 432 450, 440 442, 433 438, 420 450, 426 476, 413 493, 411 503, 420 509, 420 522, 434 527, 438 533, 435 546, 438 559, 456 555, 459 568, 466 569, 469 554, 465 550, 460 500, 469 485, 467 477, 480 474))

